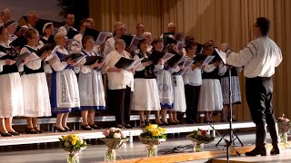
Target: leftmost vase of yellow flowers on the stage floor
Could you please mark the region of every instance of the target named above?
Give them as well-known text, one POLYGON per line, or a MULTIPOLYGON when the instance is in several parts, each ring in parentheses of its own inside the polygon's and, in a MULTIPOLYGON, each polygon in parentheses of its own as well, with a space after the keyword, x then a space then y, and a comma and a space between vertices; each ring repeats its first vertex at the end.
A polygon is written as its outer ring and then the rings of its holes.
POLYGON ((85 141, 75 134, 63 135, 59 140, 60 147, 68 152, 67 162, 78 163, 78 152, 87 147, 85 141))

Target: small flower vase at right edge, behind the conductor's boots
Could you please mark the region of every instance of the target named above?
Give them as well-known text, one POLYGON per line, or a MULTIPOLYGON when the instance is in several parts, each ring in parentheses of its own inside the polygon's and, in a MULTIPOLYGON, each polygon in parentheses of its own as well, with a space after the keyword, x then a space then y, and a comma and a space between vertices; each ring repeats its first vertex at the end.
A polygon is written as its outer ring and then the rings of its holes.
POLYGON ((283 142, 287 141, 287 133, 291 130, 291 121, 285 117, 283 114, 282 117, 279 117, 277 120, 278 129, 280 133, 280 139, 283 142))

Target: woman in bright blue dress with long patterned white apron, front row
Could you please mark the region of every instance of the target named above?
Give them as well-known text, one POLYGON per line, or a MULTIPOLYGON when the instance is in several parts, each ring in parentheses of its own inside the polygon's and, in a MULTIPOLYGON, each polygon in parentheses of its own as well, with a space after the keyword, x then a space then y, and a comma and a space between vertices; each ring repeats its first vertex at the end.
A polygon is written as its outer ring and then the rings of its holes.
POLYGON ((55 131, 71 131, 66 125, 69 112, 79 110, 80 98, 78 82, 73 71, 76 64, 72 58, 65 61, 64 57, 69 55, 65 49, 65 33, 55 34, 55 43, 60 47, 55 52, 54 57, 49 60, 53 68, 51 83, 51 106, 52 112, 56 113, 55 131))

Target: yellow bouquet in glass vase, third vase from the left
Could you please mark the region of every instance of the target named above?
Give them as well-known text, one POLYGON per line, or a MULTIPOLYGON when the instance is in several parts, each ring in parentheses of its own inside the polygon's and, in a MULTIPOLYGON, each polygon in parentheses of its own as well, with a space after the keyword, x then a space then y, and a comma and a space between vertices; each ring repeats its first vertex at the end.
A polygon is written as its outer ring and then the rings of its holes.
POLYGON ((157 156, 156 145, 162 141, 166 141, 165 128, 159 127, 157 124, 150 124, 143 129, 143 132, 139 136, 139 140, 146 144, 147 157, 152 158, 157 156))

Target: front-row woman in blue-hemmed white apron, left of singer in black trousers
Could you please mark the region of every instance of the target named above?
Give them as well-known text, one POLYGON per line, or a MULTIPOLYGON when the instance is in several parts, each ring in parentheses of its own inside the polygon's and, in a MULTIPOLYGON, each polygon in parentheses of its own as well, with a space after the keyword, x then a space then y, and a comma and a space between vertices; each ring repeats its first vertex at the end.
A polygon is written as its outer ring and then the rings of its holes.
MULTIPOLYGON (((93 52, 94 38, 91 35, 85 35, 82 39, 83 47, 82 54, 89 60, 90 56, 97 56, 93 52)), ((82 114, 82 129, 101 129, 95 125, 95 110, 105 110, 105 92, 100 68, 104 62, 95 62, 90 65, 81 65, 78 76, 78 85, 80 92, 80 105, 82 114), (89 117, 89 121, 87 121, 89 117)))

